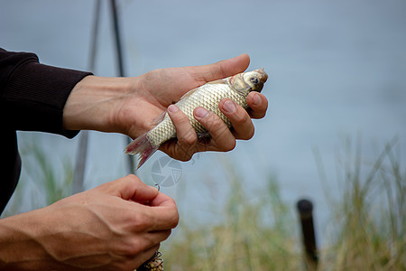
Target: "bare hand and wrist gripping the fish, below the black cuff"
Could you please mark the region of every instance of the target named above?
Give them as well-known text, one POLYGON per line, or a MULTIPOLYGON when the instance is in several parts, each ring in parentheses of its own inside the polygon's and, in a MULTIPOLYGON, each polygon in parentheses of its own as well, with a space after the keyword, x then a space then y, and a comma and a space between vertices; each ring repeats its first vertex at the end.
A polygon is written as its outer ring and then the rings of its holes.
POLYGON ((264 117, 268 101, 261 93, 251 92, 246 97, 250 113, 230 98, 219 102, 218 108, 229 119, 233 130, 216 114, 203 107, 194 109, 193 117, 211 135, 205 141, 198 140, 189 118, 171 104, 178 102, 190 89, 243 72, 248 65, 249 57, 243 54, 205 66, 152 70, 136 78, 89 76, 82 80, 83 85, 79 82, 72 90, 64 109, 64 126, 68 129, 119 132, 136 138, 156 126, 154 119, 168 109, 177 139, 161 145, 161 151, 181 161, 188 161, 198 152, 229 151, 235 147, 235 139, 250 139, 254 135, 251 118, 264 117), (117 83, 124 88, 119 89, 117 83), (89 87, 94 88, 93 93, 89 87), (80 89, 88 90, 80 93, 80 89), (84 105, 87 100, 91 104, 84 105), (78 121, 80 119, 83 121, 78 121))

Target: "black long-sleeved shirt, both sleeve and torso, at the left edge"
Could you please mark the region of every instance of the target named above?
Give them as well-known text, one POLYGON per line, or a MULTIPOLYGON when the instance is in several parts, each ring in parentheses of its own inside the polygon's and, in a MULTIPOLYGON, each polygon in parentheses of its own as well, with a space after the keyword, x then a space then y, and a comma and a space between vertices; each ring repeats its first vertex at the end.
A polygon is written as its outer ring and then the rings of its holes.
POLYGON ((77 135, 63 129, 63 107, 73 87, 89 74, 43 65, 33 53, 0 49, 0 214, 21 171, 16 131, 77 135))

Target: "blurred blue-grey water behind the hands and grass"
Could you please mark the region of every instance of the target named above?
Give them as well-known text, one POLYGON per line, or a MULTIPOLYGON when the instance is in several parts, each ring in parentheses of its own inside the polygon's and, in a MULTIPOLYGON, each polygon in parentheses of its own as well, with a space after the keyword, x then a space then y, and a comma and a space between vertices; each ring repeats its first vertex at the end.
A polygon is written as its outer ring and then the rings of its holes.
MULTIPOLYGON (((117 76, 111 7, 107 1, 100 4, 93 72, 117 76)), ((335 223, 331 206, 343 200, 343 166, 357 159, 374 165, 384 146, 395 142, 391 146, 404 169, 406 2, 126 0, 116 4, 126 76, 209 64, 243 52, 251 57, 249 70, 263 67, 271 76, 263 89, 270 107, 266 117, 254 120, 254 138, 238 142, 226 154, 195 154, 191 161, 180 163, 180 182, 161 188, 177 201, 180 220, 189 222, 189 228, 225 219, 223 207, 237 185, 230 180, 239 180, 246 202, 272 197, 268 193, 272 180, 291 212, 300 198, 313 201, 322 247, 335 223)), ((95 6, 95 1, 2 0, 0 46, 35 52, 45 64, 88 70, 95 6)), ((19 189, 22 196, 14 197, 8 215, 49 203, 38 180, 39 156, 32 149, 41 153, 47 164, 43 167, 51 168, 60 180, 56 185, 60 195, 69 195, 70 188, 63 192, 63 183, 72 174, 81 134, 69 140, 19 133, 23 154, 19 187, 26 189, 19 189)), ((125 140, 123 135, 88 134, 85 189, 128 173, 125 140)), ((161 156, 154 154, 137 173, 144 182, 153 184, 152 164, 161 156)), ((275 220, 265 215, 263 219, 275 220)), ((171 240, 180 231, 175 230, 171 240)))

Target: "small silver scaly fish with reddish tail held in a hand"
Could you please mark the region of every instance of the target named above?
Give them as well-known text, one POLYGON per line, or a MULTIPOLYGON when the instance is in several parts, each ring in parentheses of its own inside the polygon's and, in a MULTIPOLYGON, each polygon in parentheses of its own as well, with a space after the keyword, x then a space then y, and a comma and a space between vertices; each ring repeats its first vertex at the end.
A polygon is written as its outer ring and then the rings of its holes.
MULTIPOLYGON (((263 69, 238 73, 232 77, 208 82, 196 89, 189 90, 175 105, 189 117, 190 124, 198 136, 205 136, 208 135, 208 130, 193 117, 193 110, 196 107, 204 107, 215 113, 228 127, 231 127, 231 122, 218 108, 219 102, 223 98, 230 98, 247 109, 248 93, 261 92, 266 79, 268 79, 268 75, 263 69)), ((127 145, 125 154, 140 154, 139 168, 162 144, 174 137, 176 137, 175 126, 165 112, 157 126, 127 145)))

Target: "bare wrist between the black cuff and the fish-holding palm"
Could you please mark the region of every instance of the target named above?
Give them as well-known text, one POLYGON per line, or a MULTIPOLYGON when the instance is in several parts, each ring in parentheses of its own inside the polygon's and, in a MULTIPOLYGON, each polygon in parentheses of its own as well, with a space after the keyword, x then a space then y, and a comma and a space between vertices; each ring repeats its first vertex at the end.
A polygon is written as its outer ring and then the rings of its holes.
POLYGON ((87 76, 70 92, 63 109, 66 130, 122 132, 115 121, 125 99, 138 80, 136 78, 104 78, 87 76))

